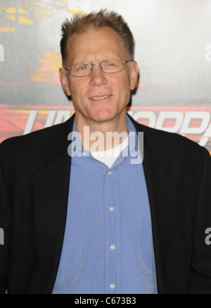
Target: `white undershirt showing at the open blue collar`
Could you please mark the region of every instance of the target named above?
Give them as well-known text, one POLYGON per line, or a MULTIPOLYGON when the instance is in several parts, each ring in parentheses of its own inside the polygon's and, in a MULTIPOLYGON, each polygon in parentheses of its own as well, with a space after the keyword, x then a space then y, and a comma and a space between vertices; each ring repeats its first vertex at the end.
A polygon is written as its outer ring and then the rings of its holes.
POLYGON ((128 146, 128 137, 120 143, 117 147, 114 147, 113 149, 108 149, 107 151, 101 151, 101 152, 91 152, 91 155, 94 157, 94 159, 97 159, 98 161, 101 161, 103 164, 106 164, 108 168, 111 168, 113 166, 113 163, 117 159, 118 156, 120 156, 120 153, 122 152, 125 147, 128 146))

